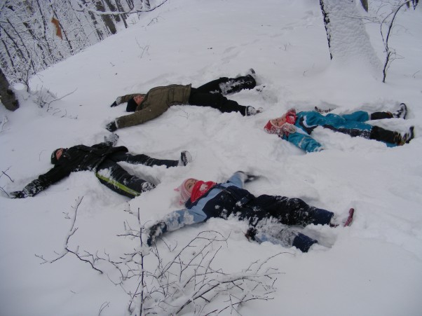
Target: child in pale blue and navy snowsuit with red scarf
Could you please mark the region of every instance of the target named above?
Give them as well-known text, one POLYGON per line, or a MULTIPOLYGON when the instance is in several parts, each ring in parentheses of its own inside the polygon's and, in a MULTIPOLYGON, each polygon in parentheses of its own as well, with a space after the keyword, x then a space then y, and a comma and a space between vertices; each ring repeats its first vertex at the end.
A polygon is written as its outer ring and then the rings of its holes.
POLYGON ((147 244, 151 247, 158 236, 185 225, 197 224, 211 217, 223 219, 234 217, 249 221, 251 229, 247 232, 247 237, 252 240, 271 241, 308 252, 308 249, 318 242, 317 240, 293 231, 268 233, 260 229, 263 221, 269 220, 286 226, 321 224, 333 227, 349 226, 353 221, 354 209, 350 209, 346 216, 339 218, 334 216, 333 212, 310 206, 299 198, 272 195, 256 197, 243 188, 245 182, 255 178, 252 174, 238 171, 222 184, 192 178, 184 180, 176 190, 179 191, 181 204, 184 203, 186 208, 171 212, 147 228, 149 235, 147 244), (279 236, 282 238, 278 239, 279 236))

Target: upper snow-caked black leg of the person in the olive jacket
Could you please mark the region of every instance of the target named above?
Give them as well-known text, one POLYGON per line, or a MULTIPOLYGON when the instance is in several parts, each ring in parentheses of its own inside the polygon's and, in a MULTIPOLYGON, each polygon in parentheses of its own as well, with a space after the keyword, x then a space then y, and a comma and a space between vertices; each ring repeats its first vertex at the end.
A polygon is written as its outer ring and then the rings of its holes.
POLYGON ((254 77, 251 75, 241 76, 238 78, 222 77, 217 80, 210 81, 196 88, 198 92, 203 93, 220 93, 229 95, 230 93, 239 92, 243 89, 253 89, 257 85, 254 77))

